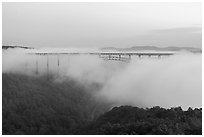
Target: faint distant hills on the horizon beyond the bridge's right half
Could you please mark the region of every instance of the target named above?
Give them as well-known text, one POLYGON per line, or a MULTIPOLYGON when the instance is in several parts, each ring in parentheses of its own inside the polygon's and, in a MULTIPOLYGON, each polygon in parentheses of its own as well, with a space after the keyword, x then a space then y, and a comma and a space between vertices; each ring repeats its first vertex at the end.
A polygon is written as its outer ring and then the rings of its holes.
POLYGON ((156 47, 156 46, 134 46, 130 48, 115 48, 105 47, 101 48, 102 51, 114 50, 114 51, 141 51, 141 50, 154 50, 154 51, 189 51, 193 53, 202 53, 202 49, 193 47, 156 47))

